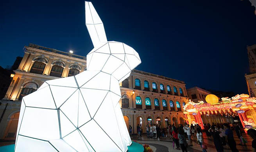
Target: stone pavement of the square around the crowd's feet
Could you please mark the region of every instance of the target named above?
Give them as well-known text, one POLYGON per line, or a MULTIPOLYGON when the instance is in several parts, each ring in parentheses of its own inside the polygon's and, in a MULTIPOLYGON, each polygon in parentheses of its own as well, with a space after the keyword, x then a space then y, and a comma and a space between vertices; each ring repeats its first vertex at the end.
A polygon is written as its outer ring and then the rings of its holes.
MULTIPOLYGON (((248 143, 247 146, 238 145, 240 143, 236 133, 234 132, 234 137, 236 141, 236 148, 239 152, 252 152, 252 139, 247 134, 242 134, 243 138, 245 138, 248 143)), ((208 149, 207 152, 217 152, 215 149, 215 145, 213 143, 213 138, 207 138, 206 134, 203 133, 204 142, 206 143, 208 149)), ((176 145, 174 145, 174 149, 172 147, 172 139, 170 138, 162 138, 160 141, 154 140, 152 138, 147 138, 147 136, 142 136, 137 138, 137 136, 131 136, 132 140, 136 140, 138 143, 149 145, 154 152, 182 152, 182 150, 176 150, 176 145)), ((202 152, 202 148, 197 143, 197 139, 193 139, 193 147, 188 147, 188 152, 202 152)), ((231 152, 227 146, 224 146, 224 152, 231 152)))

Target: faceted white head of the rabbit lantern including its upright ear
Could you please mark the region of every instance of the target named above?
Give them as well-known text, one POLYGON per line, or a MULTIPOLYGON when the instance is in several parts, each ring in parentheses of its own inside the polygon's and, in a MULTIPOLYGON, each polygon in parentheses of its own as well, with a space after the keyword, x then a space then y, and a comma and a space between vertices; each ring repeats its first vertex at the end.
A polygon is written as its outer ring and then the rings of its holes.
POLYGON ((106 72, 122 82, 141 63, 139 54, 122 42, 107 41, 103 23, 91 2, 85 2, 85 11, 86 27, 94 46, 86 56, 87 70, 106 72))

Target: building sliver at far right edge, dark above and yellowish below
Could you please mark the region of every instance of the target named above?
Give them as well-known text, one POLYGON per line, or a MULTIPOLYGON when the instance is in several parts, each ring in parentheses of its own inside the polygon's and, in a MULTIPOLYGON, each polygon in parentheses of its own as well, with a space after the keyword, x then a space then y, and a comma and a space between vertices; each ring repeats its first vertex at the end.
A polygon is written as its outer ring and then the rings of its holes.
POLYGON ((256 95, 256 44, 247 46, 250 74, 245 74, 245 80, 250 97, 256 95))

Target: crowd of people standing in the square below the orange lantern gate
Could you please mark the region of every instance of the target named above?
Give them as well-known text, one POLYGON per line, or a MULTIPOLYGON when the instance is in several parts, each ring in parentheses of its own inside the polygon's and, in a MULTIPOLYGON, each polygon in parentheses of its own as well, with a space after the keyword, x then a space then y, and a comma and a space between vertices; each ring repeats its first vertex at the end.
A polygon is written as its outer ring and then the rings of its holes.
MULTIPOLYGON (((207 146, 204 143, 203 133, 206 133, 208 138, 213 138, 213 143, 217 152, 223 152, 224 147, 227 146, 231 149, 232 152, 238 152, 236 148, 236 141, 234 139, 233 130, 235 130, 238 139, 240 139, 240 145, 246 146, 247 141, 242 137, 241 128, 238 123, 233 124, 204 124, 204 129, 200 127, 199 124, 179 124, 178 126, 168 125, 166 128, 161 128, 159 124, 148 124, 145 127, 147 131, 147 138, 153 138, 160 140, 160 136, 165 138, 170 138, 173 140, 173 148, 176 145, 177 150, 182 150, 182 152, 187 152, 187 147, 193 146, 193 140, 196 140, 197 143, 201 146, 202 152, 207 152, 207 146)), ((129 132, 131 134, 132 127, 130 125, 129 132)), ((141 124, 137 126, 138 139, 142 136, 142 127, 141 124)), ((249 129, 248 134, 253 139, 252 149, 253 152, 256 152, 256 130, 249 129)))

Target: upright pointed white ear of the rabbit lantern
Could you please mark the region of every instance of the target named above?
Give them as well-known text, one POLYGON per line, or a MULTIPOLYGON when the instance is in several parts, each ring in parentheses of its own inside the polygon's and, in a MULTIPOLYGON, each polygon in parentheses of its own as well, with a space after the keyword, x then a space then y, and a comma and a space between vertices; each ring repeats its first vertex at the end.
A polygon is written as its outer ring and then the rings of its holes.
POLYGON ((93 42, 94 48, 107 42, 104 25, 93 4, 85 1, 85 24, 93 42))

